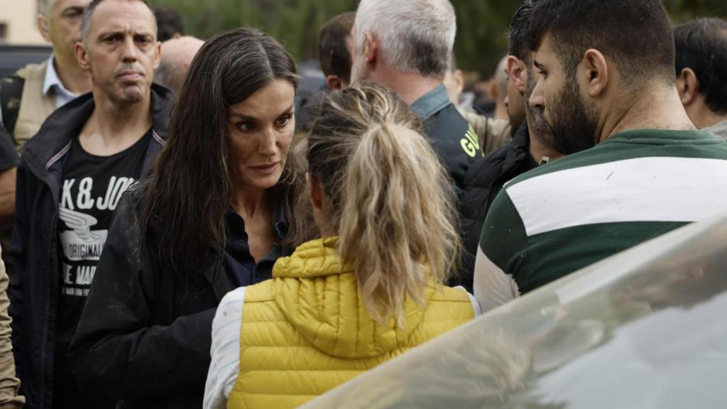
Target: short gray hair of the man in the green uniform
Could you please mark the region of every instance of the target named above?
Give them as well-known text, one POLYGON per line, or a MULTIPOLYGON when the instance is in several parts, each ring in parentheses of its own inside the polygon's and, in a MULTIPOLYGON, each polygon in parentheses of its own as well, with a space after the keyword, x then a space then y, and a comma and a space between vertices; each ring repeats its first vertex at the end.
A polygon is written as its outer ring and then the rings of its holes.
POLYGON ((354 28, 356 47, 372 33, 394 68, 436 76, 449 66, 457 17, 449 0, 361 0, 354 28))

